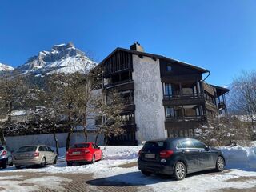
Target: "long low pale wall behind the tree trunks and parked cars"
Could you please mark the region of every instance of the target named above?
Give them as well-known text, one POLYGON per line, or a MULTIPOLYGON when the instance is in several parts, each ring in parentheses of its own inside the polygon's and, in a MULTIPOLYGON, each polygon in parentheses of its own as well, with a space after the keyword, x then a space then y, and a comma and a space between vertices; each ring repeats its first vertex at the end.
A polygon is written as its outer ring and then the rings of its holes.
MULTIPOLYGON (((57 134, 58 142, 60 147, 66 147, 66 136, 67 134, 57 134)), ((96 134, 88 135, 88 142, 95 141, 96 134)), ((75 142, 85 142, 85 137, 82 133, 71 134, 70 145, 75 142)), ((35 134, 35 135, 25 135, 25 136, 14 136, 6 137, 6 145, 10 147, 11 150, 18 150, 20 146, 25 145, 37 145, 44 144, 47 146, 55 146, 53 134, 35 134)), ((98 137, 98 145, 104 144, 104 136, 101 134, 98 137)))

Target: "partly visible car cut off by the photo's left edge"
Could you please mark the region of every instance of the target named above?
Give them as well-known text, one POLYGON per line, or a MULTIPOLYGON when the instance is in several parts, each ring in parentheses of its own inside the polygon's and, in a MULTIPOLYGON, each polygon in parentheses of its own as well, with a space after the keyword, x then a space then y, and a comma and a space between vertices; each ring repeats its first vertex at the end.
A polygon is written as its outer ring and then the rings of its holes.
POLYGON ((13 154, 8 146, 0 146, 0 167, 13 166, 13 154))

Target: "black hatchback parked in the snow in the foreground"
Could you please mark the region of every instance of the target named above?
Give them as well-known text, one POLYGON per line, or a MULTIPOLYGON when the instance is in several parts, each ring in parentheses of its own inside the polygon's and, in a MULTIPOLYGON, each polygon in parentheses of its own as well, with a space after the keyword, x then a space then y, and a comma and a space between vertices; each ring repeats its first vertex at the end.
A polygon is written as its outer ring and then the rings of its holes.
POLYGON ((221 150, 206 146, 194 138, 166 138, 146 142, 139 151, 138 169, 142 174, 169 174, 182 180, 186 174, 224 170, 221 150))

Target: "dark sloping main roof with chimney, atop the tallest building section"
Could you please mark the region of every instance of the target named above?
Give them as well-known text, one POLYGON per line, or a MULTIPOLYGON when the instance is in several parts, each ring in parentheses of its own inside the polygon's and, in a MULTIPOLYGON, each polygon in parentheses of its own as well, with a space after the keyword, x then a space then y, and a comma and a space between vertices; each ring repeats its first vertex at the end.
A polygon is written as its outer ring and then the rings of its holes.
POLYGON ((159 59, 169 60, 170 62, 177 62, 178 64, 180 64, 182 66, 188 66, 190 68, 193 68, 194 70, 199 70, 201 73, 209 72, 209 70, 203 69, 202 67, 194 66, 187 62, 181 62, 181 61, 175 60, 173 58, 167 58, 167 57, 159 55, 159 54, 149 54, 146 52, 141 52, 141 51, 137 51, 137 50, 128 50, 128 49, 124 49, 121 47, 116 48, 112 53, 110 53, 106 58, 104 58, 102 60, 102 62, 100 62, 99 64, 102 65, 108 58, 110 58, 113 54, 115 54, 118 51, 124 51, 124 52, 130 53, 130 54, 138 54, 138 55, 142 55, 142 56, 146 56, 146 57, 150 57, 150 58, 159 58, 159 59))

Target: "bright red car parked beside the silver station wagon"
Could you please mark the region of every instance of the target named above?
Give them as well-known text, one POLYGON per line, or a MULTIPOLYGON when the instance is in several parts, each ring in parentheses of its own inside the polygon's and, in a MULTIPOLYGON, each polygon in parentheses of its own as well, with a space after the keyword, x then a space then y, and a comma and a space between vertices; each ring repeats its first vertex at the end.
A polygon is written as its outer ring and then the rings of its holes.
POLYGON ((76 143, 66 152, 67 166, 80 162, 94 163, 102 158, 102 150, 94 142, 76 143))

